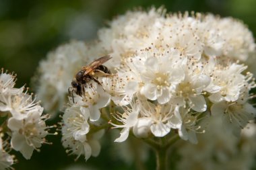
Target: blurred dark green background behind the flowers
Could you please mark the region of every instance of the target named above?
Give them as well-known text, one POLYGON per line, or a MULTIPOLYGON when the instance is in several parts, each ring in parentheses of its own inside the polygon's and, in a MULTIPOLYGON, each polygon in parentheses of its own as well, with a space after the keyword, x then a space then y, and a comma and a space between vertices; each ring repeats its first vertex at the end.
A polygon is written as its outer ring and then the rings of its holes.
MULTIPOLYGON (((18 74, 17 87, 26 83, 46 53, 71 39, 90 41, 106 21, 134 7, 148 9, 164 5, 167 11, 199 11, 232 16, 243 20, 256 35, 255 0, 0 0, 0 67, 18 74)), ((106 136, 107 138, 107 136, 106 136)), ((15 169, 64 169, 74 163, 96 169, 134 169, 119 159, 109 157, 111 143, 104 144, 99 157, 85 163, 74 162, 61 146, 60 136, 48 138, 53 145, 45 145, 26 161, 15 152, 19 162, 15 169), (108 167, 108 168, 106 168, 108 167)), ((146 169, 155 169, 152 153, 146 169), (151 167, 151 168, 150 168, 151 167)))

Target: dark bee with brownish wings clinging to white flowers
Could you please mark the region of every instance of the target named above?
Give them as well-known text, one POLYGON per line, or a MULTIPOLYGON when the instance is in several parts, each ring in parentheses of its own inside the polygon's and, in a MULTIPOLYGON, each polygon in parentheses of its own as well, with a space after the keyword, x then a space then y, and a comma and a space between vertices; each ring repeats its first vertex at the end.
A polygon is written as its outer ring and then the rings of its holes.
MULTIPOLYGON (((69 94, 70 94, 70 88, 72 88, 72 97, 73 97, 73 92, 75 92, 77 95, 82 96, 85 93, 84 87, 87 87, 87 83, 90 82, 91 80, 95 81, 98 83, 98 85, 101 85, 100 81, 98 81, 97 77, 101 76, 109 76, 111 73, 108 70, 108 68, 104 65, 102 65, 104 62, 110 60, 109 55, 107 56, 102 56, 93 62, 91 62, 87 66, 83 66, 80 71, 78 71, 75 75, 75 78, 71 82, 71 86, 69 87, 69 94)), ((74 98, 73 98, 73 103, 74 98)))

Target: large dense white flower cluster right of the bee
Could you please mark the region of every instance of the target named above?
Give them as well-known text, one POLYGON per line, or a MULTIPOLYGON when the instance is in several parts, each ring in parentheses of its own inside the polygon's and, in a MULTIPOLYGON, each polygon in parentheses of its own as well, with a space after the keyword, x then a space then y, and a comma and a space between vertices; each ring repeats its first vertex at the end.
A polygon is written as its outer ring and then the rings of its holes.
POLYGON ((237 62, 255 52, 255 44, 241 22, 200 13, 164 17, 152 9, 117 18, 100 40, 111 44, 104 47, 118 63, 123 94, 117 95, 136 100, 117 116, 121 124, 113 124, 123 128, 116 141, 125 140, 130 129, 143 138, 177 129, 183 140, 197 143, 195 132, 204 132, 198 122, 207 115, 221 115, 224 128, 236 135, 255 118, 248 103, 253 75, 237 62))

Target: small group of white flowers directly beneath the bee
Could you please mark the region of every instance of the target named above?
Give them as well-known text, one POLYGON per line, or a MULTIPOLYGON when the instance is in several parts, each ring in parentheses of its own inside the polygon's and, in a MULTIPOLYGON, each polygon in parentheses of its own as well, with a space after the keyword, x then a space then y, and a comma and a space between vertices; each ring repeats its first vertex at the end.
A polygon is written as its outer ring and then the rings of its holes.
POLYGON ((95 130, 93 127, 100 126, 99 109, 108 105, 109 101, 110 95, 96 83, 93 83, 83 96, 69 97, 69 102, 73 105, 65 110, 62 126, 63 146, 69 148, 67 153, 77 155, 77 158, 84 155, 86 160, 91 155, 98 156, 100 153, 98 140, 103 136, 104 129, 95 130))

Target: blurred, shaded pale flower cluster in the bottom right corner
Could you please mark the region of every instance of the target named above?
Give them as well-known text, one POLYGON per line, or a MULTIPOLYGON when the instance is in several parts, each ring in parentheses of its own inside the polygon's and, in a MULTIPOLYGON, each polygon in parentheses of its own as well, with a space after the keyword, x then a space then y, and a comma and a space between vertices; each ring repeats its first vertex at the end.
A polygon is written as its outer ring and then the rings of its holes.
POLYGON ((207 133, 199 135, 198 144, 184 142, 181 145, 177 169, 252 169, 256 151, 255 124, 249 123, 242 130, 241 138, 223 133, 220 118, 212 118, 208 128, 207 133))

